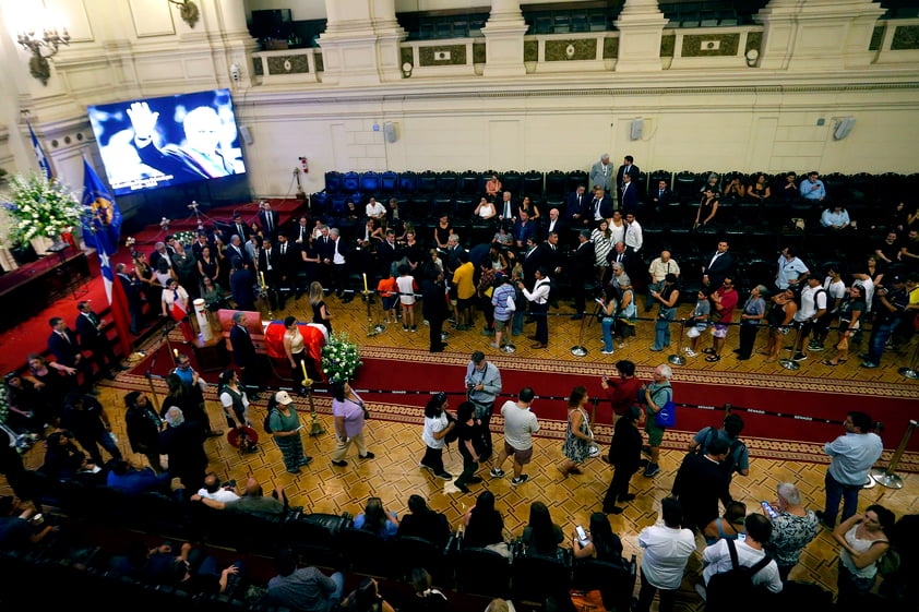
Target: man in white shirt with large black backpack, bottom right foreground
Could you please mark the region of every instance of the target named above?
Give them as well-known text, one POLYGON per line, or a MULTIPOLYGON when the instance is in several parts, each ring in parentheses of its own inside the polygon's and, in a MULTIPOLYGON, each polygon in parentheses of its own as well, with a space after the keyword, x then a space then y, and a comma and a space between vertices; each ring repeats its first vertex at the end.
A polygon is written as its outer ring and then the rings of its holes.
POLYGON ((767 593, 781 592, 778 565, 763 550, 772 537, 772 523, 751 514, 744 530, 742 540, 720 539, 702 552, 705 612, 765 610, 772 602, 767 593))

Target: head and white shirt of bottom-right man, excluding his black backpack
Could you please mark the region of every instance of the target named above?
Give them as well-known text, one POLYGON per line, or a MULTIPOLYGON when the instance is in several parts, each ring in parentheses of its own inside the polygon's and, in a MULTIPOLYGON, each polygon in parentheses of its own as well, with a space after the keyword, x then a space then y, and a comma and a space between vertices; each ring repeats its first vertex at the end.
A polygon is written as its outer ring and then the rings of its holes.
MULTIPOLYGON (((738 538, 736 541, 730 541, 737 548, 738 564, 743 567, 752 567, 766 556, 763 545, 767 544, 772 537, 773 524, 762 514, 751 514, 747 516, 743 526, 747 533, 745 539, 738 538)), ((702 578, 705 580, 706 587, 708 587, 712 576, 724 574, 733 567, 728 541, 721 538, 702 551, 702 561, 705 564, 702 578)), ((771 592, 781 592, 781 578, 778 575, 778 565, 775 560, 769 560, 765 567, 753 574, 752 581, 754 586, 762 585, 771 592)), ((737 603, 742 608, 742 602, 737 603)))

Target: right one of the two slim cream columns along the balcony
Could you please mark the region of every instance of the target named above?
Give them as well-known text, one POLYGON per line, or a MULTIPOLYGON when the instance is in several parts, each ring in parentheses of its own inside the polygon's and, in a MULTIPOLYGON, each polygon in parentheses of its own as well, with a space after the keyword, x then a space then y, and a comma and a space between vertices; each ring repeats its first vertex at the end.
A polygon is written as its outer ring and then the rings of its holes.
POLYGON ((660 71, 660 38, 667 17, 660 12, 657 0, 625 0, 614 23, 619 29, 616 71, 660 71))

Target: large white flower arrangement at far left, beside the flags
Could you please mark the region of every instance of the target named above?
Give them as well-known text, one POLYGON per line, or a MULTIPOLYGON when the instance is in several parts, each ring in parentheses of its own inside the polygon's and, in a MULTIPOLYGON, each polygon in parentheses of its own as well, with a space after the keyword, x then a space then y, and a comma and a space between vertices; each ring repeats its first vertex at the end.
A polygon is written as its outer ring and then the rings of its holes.
POLYGON ((12 217, 10 238, 26 244, 37 237, 58 239, 80 225, 83 205, 70 189, 44 175, 14 175, 3 194, 3 208, 12 217))

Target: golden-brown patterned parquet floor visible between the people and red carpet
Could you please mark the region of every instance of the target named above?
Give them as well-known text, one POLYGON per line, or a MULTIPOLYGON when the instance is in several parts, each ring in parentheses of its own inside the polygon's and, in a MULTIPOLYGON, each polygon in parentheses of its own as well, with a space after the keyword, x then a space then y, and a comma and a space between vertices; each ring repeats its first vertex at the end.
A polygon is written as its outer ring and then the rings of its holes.
MULTIPOLYGON (((309 319, 306 299, 297 303, 291 302, 290 305, 291 308, 283 313, 273 313, 274 319, 283 319, 286 314, 295 314, 303 320, 309 319)), ((368 347, 393 348, 426 346, 423 343, 427 341, 427 328, 422 325, 419 325, 416 334, 403 332, 401 325, 390 325, 384 333, 366 337, 368 329, 366 304, 356 300, 343 305, 333 297, 329 300, 329 305, 334 314, 333 326, 336 329, 347 329, 351 339, 358 344, 368 347)), ((375 308, 379 309, 379 305, 375 308)), ((570 311, 564 305, 562 310, 570 311)), ((682 312, 681 310, 681 315, 682 312)), ((374 312, 374 321, 381 319, 381 313, 374 312)), ((481 316, 479 316, 478 328, 481 327, 481 316)), ((584 358, 587 361, 612 362, 614 359, 628 358, 640 365, 653 367, 661 361, 661 356, 647 351, 651 345, 651 323, 640 324, 638 335, 629 340, 629 347, 617 350, 616 356, 608 357, 599 352, 600 331, 596 322, 593 325, 585 325, 583 339, 578 341, 580 322, 554 317, 550 321, 549 349, 537 351, 529 348, 528 341, 516 338, 518 340, 517 353, 526 357, 576 360, 577 358, 570 355, 569 349, 575 344, 583 344, 589 350, 589 355, 584 358), (540 355, 537 356, 537 353, 540 355)), ((530 329, 532 327, 528 326, 525 334, 530 334, 530 329)), ((764 334, 761 339, 764 340, 764 334)), ((463 333, 451 331, 447 341, 450 357, 453 357, 453 353, 468 356, 473 350, 484 350, 487 355, 491 351, 492 355, 497 355, 488 347, 490 338, 479 335, 478 331, 463 333)), ((736 347, 736 337, 729 337, 726 353, 730 353, 730 349, 736 347)), ((909 347, 909 350, 911 349, 912 347, 909 347)), ((851 352, 855 355, 858 349, 854 348, 851 352)), ((739 373, 795 375, 776 364, 764 364, 762 359, 762 357, 754 357, 750 361, 741 362, 725 358, 719 363, 691 362, 684 368, 704 365, 706 369, 739 373)), ((835 376, 840 380, 859 380, 866 384, 902 383, 904 379, 896 373, 896 368, 903 364, 904 360, 903 356, 887 355, 884 367, 864 371, 859 369, 857 363, 854 364, 857 361, 855 359, 850 359, 845 365, 828 368, 812 358, 802 364, 798 375, 835 376)), ((115 422, 119 446, 127 456, 139 465, 143 465, 143 457, 131 455, 128 449, 123 410, 120 408, 122 392, 109 386, 100 388, 100 398, 104 405, 109 407, 109 413, 115 422)), ((212 422, 215 424, 223 422, 223 416, 216 403, 208 403, 208 410, 212 422)), ((253 422, 261 423, 263 410, 264 401, 258 403, 253 422)), ((319 421, 326 431, 332 430, 331 417, 320 415, 319 421)), ((435 479, 428 471, 418 468, 418 461, 425 448, 420 439, 420 415, 417 423, 371 420, 367 428, 368 447, 375 453, 377 458, 361 460, 357 458, 356 451, 351 451, 351 456, 347 457, 349 465, 345 468, 333 467, 330 463, 334 447, 334 437, 331 433, 317 436, 305 435, 307 453, 315 458, 301 476, 291 476, 284 470, 281 453, 271 441, 260 444, 259 453, 248 455, 239 454, 237 449, 229 446, 225 437, 208 440, 206 449, 211 458, 211 469, 222 477, 234 478, 241 482, 251 475, 266 487, 283 485, 291 503, 305 506, 308 512, 342 513, 347 511, 357 514, 366 500, 375 495, 383 500, 386 508, 402 515, 406 512, 407 497, 417 493, 425 496, 431 507, 443 512, 450 524, 455 527, 460 524, 463 513, 474 503, 475 495, 489 489, 496 494, 498 507, 504 515, 506 536, 511 538, 522 533, 528 518, 529 504, 534 501, 544 501, 549 505, 553 520, 563 527, 565 533, 571 533, 577 524, 586 525, 590 513, 600 507, 612 469, 599 459, 592 459, 586 464, 583 476, 563 477, 556 467, 562 460, 561 443, 553 439, 536 440, 535 458, 526 469, 530 480, 523 485, 512 487, 510 476, 492 479, 487 468, 482 468, 479 475, 485 481, 470 487, 473 494, 450 492, 452 483, 435 479)), ((260 425, 256 428, 261 429, 260 425)), ((497 434, 494 439, 500 441, 497 434)), ((40 446, 29 451, 25 456, 28 467, 38 467, 43 455, 44 451, 40 446)), ((458 453, 453 451, 446 453, 444 457, 446 469, 458 475, 462 471, 458 453)), ((641 556, 637 533, 642 528, 657 520, 658 502, 669 494, 681 459, 682 453, 679 451, 663 451, 663 471, 654 479, 643 478, 640 473, 635 475, 632 479, 632 491, 637 494, 637 497, 628 504, 624 513, 618 516, 610 515, 613 530, 622 538, 626 555, 641 556)), ((510 475, 510 465, 504 468, 510 475)), ((819 509, 823 505, 824 473, 825 466, 823 465, 754 458, 751 460, 750 476, 735 479, 732 494, 748 504, 749 512, 757 512, 761 500, 775 500, 776 485, 779 482, 789 481, 797 483, 801 489, 808 507, 819 509)), ((861 493, 860 507, 880 503, 894 511, 898 517, 904 514, 919 513, 919 475, 903 476, 905 487, 902 490, 885 489, 880 485, 864 490, 861 493)), ((9 492, 4 482, 0 481, 0 484, 2 485, 0 493, 9 492)), ((791 578, 816 581, 835 591, 837 556, 838 547, 833 543, 828 533, 821 532, 804 551, 801 564, 792 572, 791 578)), ((700 609, 700 599, 692 588, 693 581, 699 579, 700 574, 701 555, 696 555, 690 563, 687 579, 680 592, 678 610, 700 609)))

